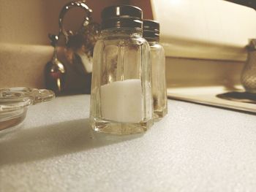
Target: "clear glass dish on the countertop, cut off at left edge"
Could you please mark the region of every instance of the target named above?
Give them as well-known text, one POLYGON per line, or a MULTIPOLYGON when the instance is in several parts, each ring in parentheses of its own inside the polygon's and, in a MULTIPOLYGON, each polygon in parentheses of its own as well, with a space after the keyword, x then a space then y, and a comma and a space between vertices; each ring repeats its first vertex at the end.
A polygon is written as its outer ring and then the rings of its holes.
POLYGON ((53 91, 37 88, 0 88, 0 134, 18 126, 31 104, 50 101, 53 91))

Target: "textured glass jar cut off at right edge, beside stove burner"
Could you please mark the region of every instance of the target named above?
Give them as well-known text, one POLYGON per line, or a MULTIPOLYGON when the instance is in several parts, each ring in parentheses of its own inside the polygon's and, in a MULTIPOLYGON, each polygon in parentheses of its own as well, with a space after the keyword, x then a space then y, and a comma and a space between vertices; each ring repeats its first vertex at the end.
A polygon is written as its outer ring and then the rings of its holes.
POLYGON ((248 58, 241 74, 241 84, 247 92, 256 93, 256 39, 251 39, 246 48, 248 58))

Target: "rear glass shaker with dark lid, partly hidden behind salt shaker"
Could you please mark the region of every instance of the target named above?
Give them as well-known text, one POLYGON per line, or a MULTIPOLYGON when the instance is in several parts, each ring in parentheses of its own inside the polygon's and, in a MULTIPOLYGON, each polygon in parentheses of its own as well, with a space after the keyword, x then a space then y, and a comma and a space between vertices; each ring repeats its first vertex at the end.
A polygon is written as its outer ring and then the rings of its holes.
POLYGON ((159 23, 154 20, 143 20, 143 37, 151 47, 154 118, 159 119, 167 114, 165 50, 159 44, 159 23))

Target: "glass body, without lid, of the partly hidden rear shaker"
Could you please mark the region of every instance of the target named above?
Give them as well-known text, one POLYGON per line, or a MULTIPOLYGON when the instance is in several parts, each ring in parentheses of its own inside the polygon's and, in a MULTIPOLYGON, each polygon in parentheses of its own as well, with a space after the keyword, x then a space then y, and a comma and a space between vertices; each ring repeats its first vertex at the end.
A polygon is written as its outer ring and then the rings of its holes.
POLYGON ((165 50, 159 44, 159 38, 146 38, 151 47, 152 95, 154 118, 163 118, 167 114, 167 93, 165 80, 165 50))

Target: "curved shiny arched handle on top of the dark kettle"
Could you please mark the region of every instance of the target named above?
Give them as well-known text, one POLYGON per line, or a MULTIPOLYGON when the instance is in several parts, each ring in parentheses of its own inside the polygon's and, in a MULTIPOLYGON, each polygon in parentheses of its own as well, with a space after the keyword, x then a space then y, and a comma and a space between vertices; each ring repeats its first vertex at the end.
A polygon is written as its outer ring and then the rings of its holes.
POLYGON ((92 10, 85 4, 85 1, 72 1, 64 5, 59 14, 59 34, 64 34, 64 36, 68 37, 67 31, 63 26, 64 15, 72 9, 73 7, 81 7, 86 11, 86 18, 83 20, 83 26, 87 26, 91 22, 91 12, 92 10))

